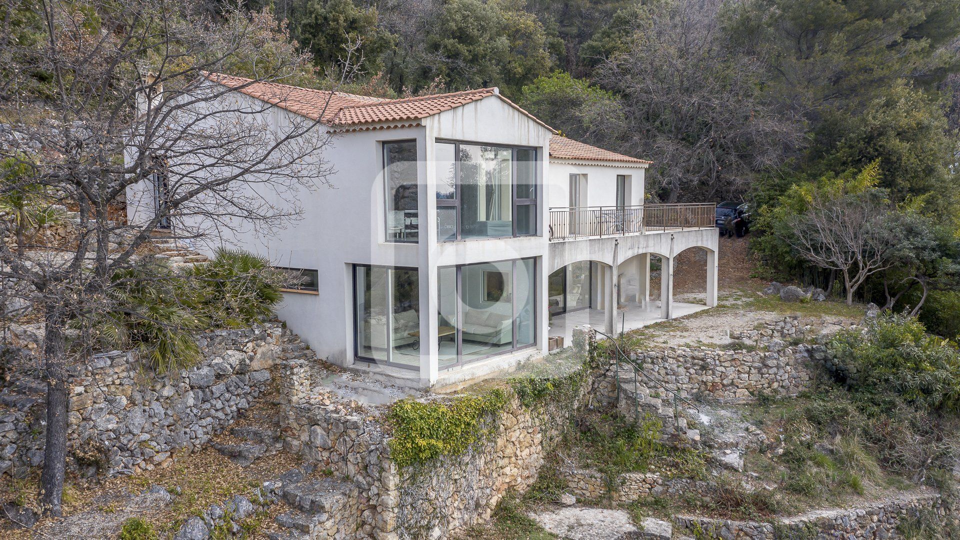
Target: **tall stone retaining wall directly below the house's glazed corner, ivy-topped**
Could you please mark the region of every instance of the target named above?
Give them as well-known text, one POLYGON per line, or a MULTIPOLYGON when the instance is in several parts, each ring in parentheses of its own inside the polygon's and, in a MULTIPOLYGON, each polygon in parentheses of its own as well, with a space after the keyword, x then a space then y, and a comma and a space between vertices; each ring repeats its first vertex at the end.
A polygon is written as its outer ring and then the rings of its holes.
POLYGON ((514 399, 491 440, 465 454, 398 468, 381 422, 340 405, 290 407, 291 452, 324 463, 359 488, 362 537, 440 538, 490 519, 509 490, 536 480, 550 444, 570 425, 573 406, 526 408, 514 399))

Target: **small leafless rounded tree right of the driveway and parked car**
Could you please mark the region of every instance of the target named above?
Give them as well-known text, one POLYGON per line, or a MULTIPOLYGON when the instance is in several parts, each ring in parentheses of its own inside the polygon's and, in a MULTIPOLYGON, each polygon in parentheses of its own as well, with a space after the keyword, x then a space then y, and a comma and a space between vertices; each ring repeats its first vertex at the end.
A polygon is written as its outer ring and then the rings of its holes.
POLYGON ((898 238, 889 227, 889 209, 873 195, 816 198, 781 236, 800 257, 843 276, 848 305, 867 278, 896 262, 898 238))

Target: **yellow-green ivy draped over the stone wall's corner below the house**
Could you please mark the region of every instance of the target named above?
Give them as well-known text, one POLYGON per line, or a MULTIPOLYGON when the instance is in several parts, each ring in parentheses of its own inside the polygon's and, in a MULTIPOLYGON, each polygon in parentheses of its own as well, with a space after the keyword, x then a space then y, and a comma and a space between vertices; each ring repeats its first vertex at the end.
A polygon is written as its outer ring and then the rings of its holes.
POLYGON ((406 467, 441 455, 462 454, 492 435, 496 430, 492 417, 507 403, 507 394, 500 389, 445 402, 400 400, 387 414, 393 433, 391 456, 397 466, 406 467))

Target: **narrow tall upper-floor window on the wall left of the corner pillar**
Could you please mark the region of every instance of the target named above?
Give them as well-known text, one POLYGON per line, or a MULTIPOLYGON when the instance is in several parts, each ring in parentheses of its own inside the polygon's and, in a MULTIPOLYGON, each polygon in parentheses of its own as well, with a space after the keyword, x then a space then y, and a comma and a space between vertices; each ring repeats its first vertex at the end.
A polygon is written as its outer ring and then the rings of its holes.
POLYGON ((383 144, 387 184, 387 241, 416 242, 420 231, 417 198, 417 141, 383 144))

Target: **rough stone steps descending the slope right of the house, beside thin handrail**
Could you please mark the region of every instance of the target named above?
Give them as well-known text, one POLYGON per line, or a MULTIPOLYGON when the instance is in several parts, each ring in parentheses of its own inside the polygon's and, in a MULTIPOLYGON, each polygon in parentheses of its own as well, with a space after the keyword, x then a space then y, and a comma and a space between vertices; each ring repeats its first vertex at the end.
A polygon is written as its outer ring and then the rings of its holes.
POLYGON ((644 384, 643 374, 621 366, 616 383, 620 387, 617 410, 624 418, 634 418, 639 413, 640 421, 650 416, 660 421, 660 433, 665 442, 682 448, 700 448, 700 430, 689 428, 686 418, 674 407, 673 396, 664 390, 651 390, 644 384))

